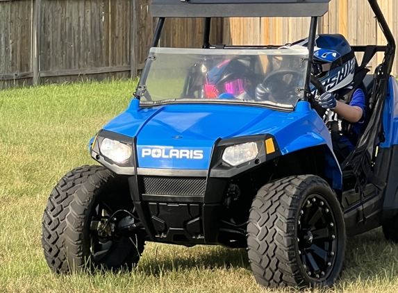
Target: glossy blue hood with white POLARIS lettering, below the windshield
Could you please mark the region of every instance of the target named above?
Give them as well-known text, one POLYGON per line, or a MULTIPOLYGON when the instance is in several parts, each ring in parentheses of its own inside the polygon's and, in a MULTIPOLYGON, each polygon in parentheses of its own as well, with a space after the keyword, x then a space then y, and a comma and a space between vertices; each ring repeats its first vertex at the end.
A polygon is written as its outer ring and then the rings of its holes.
POLYGON ((146 168, 208 169, 219 138, 269 133, 283 154, 294 151, 291 146, 303 135, 319 144, 325 143, 322 136, 330 140, 322 119, 306 102, 299 102, 295 112, 208 104, 131 107, 103 129, 137 137, 138 167, 146 168))

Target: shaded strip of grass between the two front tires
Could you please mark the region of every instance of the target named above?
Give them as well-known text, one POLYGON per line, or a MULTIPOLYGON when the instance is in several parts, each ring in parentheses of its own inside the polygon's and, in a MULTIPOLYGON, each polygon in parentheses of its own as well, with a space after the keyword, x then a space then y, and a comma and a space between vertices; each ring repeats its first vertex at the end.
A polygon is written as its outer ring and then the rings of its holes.
POLYGON ((166 271, 181 271, 182 269, 230 269, 240 267, 250 269, 249 258, 245 249, 227 249, 217 247, 206 253, 185 253, 183 256, 151 256, 138 266, 144 274, 158 276, 166 271))

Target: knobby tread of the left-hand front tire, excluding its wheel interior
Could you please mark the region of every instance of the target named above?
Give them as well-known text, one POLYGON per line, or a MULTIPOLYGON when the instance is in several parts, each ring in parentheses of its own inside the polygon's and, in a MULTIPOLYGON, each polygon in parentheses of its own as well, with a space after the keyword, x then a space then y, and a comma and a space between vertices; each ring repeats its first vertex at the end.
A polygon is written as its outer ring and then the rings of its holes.
MULTIPOLYGON (((85 217, 95 192, 111 178, 114 174, 106 167, 85 165, 69 171, 53 188, 42 218, 42 247, 51 271, 94 269, 83 251, 85 217)), ((140 255, 144 244, 138 246, 140 255)))

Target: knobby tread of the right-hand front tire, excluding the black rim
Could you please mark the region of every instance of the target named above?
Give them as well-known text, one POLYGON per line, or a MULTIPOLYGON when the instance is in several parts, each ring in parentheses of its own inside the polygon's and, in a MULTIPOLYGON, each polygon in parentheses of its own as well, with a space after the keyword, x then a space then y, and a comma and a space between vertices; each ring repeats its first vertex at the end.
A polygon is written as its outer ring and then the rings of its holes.
POLYGON ((295 247, 295 221, 305 190, 320 185, 334 191, 320 177, 281 178, 258 190, 247 226, 249 261, 254 277, 266 287, 308 287, 300 271, 295 247))

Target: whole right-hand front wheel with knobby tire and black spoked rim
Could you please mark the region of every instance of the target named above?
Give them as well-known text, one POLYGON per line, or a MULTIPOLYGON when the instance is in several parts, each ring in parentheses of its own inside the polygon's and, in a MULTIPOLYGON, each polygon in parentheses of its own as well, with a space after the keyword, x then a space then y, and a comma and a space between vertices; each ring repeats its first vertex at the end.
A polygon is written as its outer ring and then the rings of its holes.
POLYGON ((247 226, 254 277, 267 287, 323 287, 340 276, 345 222, 320 177, 290 176, 260 188, 247 226))

